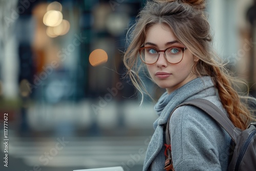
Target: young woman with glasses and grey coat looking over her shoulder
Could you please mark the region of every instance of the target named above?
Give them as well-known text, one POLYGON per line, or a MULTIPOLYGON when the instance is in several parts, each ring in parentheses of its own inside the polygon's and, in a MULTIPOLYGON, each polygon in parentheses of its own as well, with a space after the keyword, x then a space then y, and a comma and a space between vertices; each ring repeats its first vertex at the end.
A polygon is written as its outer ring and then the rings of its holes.
MULTIPOLYGON (((252 119, 246 100, 232 87, 212 50, 204 0, 148 1, 129 30, 124 54, 127 75, 143 94, 143 69, 166 92, 155 110, 155 133, 148 145, 143 170, 163 170, 164 124, 180 103, 203 98, 216 104, 232 123, 246 129, 252 119)), ((194 106, 182 106, 170 118, 175 170, 227 170, 230 136, 208 115, 194 106)))

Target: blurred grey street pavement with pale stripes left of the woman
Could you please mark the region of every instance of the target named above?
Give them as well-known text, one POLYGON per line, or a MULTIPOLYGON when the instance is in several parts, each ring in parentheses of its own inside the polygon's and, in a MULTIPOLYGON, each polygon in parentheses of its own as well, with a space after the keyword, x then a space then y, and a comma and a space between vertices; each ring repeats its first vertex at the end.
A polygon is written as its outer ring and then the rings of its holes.
MULTIPOLYGON (((91 101, 30 105, 26 129, 17 121, 9 123, 8 167, 1 162, 0 170, 68 171, 111 166, 142 170, 154 132, 154 106, 113 101, 101 106, 97 114, 91 106, 91 101)), ((2 126, 0 133, 4 133, 2 126)), ((2 141, 3 136, 0 134, 2 141)), ((2 143, 3 161, 5 154, 2 143)))

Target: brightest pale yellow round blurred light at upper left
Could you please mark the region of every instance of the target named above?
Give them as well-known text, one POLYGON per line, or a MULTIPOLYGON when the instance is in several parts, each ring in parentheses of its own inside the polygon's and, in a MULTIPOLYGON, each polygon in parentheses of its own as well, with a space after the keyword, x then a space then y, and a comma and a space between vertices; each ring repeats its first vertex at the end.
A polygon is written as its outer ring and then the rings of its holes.
POLYGON ((55 27, 58 26, 63 19, 63 15, 60 11, 50 10, 47 11, 42 19, 46 26, 55 27))

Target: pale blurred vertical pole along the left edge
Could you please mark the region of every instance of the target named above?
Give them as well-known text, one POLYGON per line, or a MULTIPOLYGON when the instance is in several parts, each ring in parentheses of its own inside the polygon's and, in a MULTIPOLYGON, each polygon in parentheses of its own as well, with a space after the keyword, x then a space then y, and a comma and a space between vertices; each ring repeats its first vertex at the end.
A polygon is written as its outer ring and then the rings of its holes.
POLYGON ((17 0, 0 0, 0 79, 4 98, 18 97, 18 56, 14 27, 18 18, 17 0))

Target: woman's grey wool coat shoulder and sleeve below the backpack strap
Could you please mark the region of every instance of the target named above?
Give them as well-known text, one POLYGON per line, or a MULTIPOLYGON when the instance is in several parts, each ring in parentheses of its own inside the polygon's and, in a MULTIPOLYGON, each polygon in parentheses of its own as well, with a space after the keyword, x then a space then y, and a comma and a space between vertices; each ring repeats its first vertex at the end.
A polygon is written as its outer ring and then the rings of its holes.
MULTIPOLYGON (((214 103, 221 108, 219 102, 214 103)), ((170 118, 169 130, 176 168, 208 170, 226 163, 226 160, 220 163, 219 158, 228 153, 230 137, 214 119, 196 106, 177 108, 170 118)))

